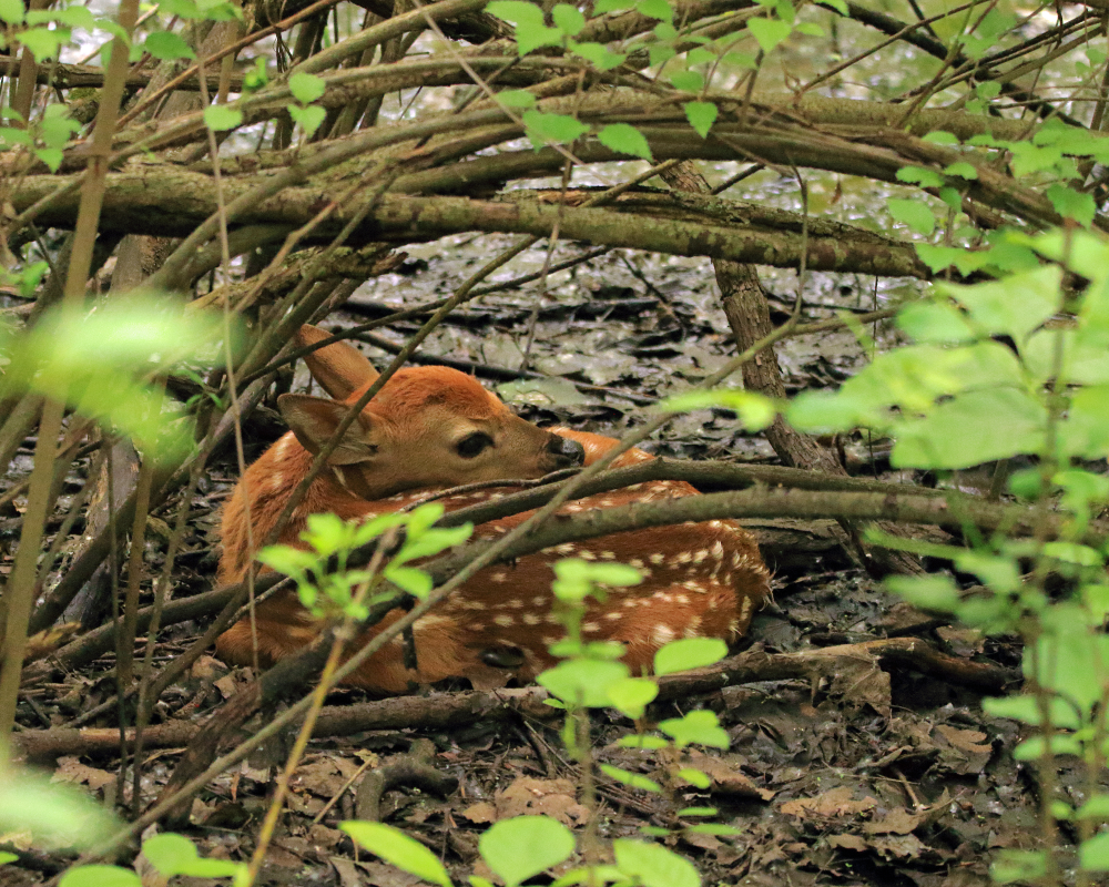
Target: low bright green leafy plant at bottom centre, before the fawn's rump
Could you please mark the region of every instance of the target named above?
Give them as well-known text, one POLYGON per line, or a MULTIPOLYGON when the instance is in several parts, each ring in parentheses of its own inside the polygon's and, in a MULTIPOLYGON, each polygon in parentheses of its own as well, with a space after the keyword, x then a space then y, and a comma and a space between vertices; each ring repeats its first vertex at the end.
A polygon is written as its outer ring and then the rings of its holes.
MULTIPOLYGON (((591 803, 593 761, 589 741, 590 708, 614 707, 643 725, 647 706, 654 701, 659 686, 653 677, 633 676, 619 661, 623 650, 612 642, 586 641, 581 624, 590 598, 603 600, 606 588, 633 585, 641 581, 638 570, 619 563, 593 563, 566 559, 554 564, 554 614, 566 628, 567 636, 552 644, 552 654, 562 661, 539 675, 539 683, 551 693, 548 704, 567 712, 562 738, 582 767, 586 803, 591 803)), ((663 646, 654 657, 657 676, 711 665, 728 652, 723 641, 686 639, 663 646)), ((663 734, 640 733, 625 737, 621 745, 668 755, 674 763, 685 747, 700 744, 719 748, 729 745, 728 734, 710 711, 688 712, 658 724, 663 734)), ((600 772, 632 788, 661 793, 672 792, 639 773, 599 766, 600 772)), ((682 785, 708 787, 709 777, 694 767, 672 767, 674 779, 682 785)), ((714 816, 709 807, 690 807, 679 815, 714 816)), ((592 820, 591 820, 592 822, 592 820)), ((431 884, 449 887, 450 878, 430 852, 399 829, 378 823, 344 823, 342 828, 360 846, 398 868, 431 884)), ((587 829, 589 827, 587 826, 587 829)), ((690 832, 731 835, 736 830, 720 824, 690 826, 690 832)), ((645 837, 668 836, 669 829, 644 828, 645 837)), ((700 876, 684 857, 653 840, 620 838, 612 842, 612 864, 602 864, 591 850, 593 836, 579 842, 561 823, 547 816, 517 816, 502 819, 481 836, 478 850, 486 865, 509 887, 561 865, 581 849, 586 864, 562 874, 556 885, 641 884, 644 887, 699 887, 700 876)), ((471 877, 474 887, 491 887, 480 877, 471 877)))

